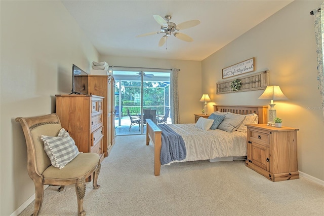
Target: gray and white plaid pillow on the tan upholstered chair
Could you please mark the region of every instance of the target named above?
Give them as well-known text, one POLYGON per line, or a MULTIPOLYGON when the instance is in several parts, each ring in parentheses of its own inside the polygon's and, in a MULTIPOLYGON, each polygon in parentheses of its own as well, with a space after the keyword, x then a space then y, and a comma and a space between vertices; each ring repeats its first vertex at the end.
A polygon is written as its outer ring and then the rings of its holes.
POLYGON ((54 167, 62 169, 73 160, 80 152, 69 133, 62 128, 58 136, 42 135, 44 150, 49 156, 54 167))

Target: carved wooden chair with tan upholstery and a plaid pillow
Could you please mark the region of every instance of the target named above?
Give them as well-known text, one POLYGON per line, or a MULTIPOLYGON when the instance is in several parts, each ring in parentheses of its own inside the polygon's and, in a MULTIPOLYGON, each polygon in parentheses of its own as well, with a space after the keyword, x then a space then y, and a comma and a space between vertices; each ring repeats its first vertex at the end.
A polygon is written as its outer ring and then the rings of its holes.
POLYGON ((85 215, 83 200, 86 193, 86 179, 93 175, 93 188, 99 188, 97 185, 101 167, 99 155, 79 153, 74 140, 62 129, 56 114, 19 117, 16 121, 20 122, 25 135, 27 170, 35 185, 33 215, 36 216, 41 209, 44 185, 61 186, 58 191, 62 191, 64 186, 72 184, 75 184, 78 215, 85 215), (64 152, 63 156, 62 152, 64 152))

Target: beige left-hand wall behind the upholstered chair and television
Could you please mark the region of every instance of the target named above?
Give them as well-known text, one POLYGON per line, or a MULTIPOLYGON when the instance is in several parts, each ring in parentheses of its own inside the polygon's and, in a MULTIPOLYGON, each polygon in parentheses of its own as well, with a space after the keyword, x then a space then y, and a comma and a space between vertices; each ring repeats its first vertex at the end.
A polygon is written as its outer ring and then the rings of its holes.
POLYGON ((72 63, 89 68, 99 55, 60 1, 0 1, 1 211, 10 215, 34 194, 26 144, 16 117, 54 112, 70 93, 72 63))

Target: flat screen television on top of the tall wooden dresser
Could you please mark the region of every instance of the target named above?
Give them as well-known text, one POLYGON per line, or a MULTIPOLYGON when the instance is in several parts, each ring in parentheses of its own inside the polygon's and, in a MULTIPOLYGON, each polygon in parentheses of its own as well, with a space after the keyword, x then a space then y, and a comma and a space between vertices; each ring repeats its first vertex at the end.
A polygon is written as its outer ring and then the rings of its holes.
POLYGON ((87 94, 87 89, 82 82, 84 77, 88 77, 88 74, 80 69, 75 64, 72 65, 72 93, 71 94, 87 94))

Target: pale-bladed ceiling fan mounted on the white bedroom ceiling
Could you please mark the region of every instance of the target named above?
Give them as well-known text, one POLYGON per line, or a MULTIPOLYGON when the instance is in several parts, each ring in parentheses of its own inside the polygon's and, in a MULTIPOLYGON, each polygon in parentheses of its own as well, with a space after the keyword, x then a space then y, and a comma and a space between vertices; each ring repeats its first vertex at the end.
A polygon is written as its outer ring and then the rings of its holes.
POLYGON ((182 22, 182 23, 176 25, 174 22, 170 22, 170 20, 171 20, 170 15, 165 16, 165 19, 163 19, 159 15, 153 15, 153 17, 154 17, 155 21, 161 26, 160 31, 154 31, 154 32, 149 32, 149 33, 145 33, 145 34, 140 34, 140 35, 137 35, 136 37, 138 38, 138 37, 144 37, 144 36, 151 35, 151 34, 165 33, 165 35, 163 35, 163 37, 158 42, 159 47, 163 46, 166 43, 167 38, 172 34, 176 38, 178 38, 182 41, 192 42, 193 39, 190 38, 187 34, 184 34, 181 32, 176 32, 176 31, 186 29, 186 28, 191 28, 193 26, 200 24, 199 20, 190 20, 190 21, 182 22))

